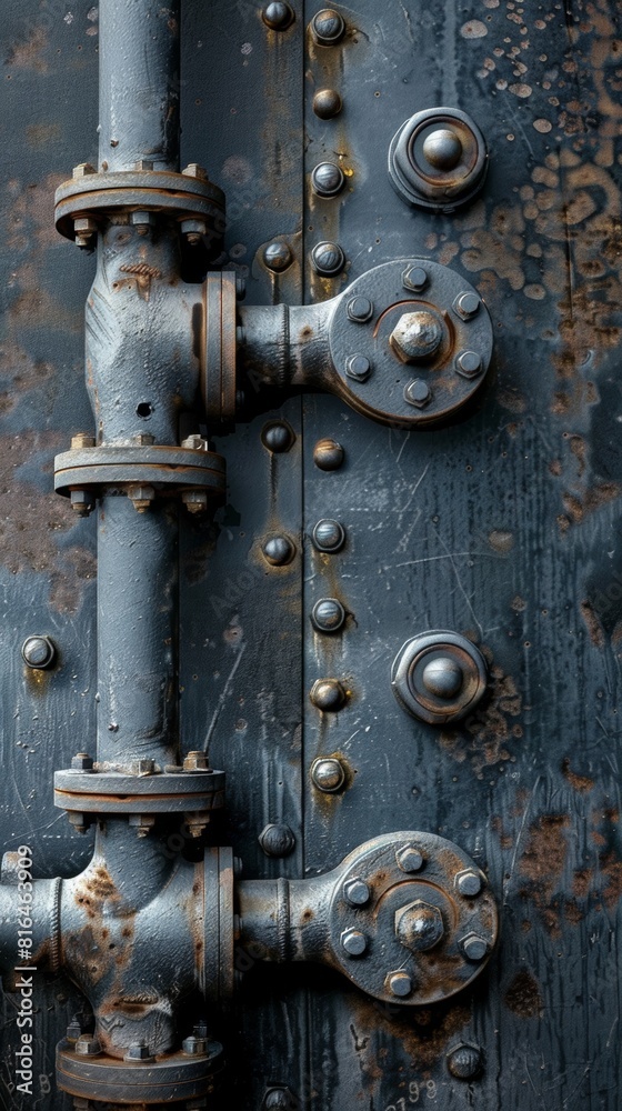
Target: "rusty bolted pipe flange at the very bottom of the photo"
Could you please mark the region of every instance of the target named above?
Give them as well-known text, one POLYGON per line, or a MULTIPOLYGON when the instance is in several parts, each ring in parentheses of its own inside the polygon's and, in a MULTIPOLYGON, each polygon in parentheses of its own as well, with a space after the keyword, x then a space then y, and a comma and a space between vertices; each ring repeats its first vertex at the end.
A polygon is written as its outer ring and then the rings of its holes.
POLYGON ((57 1045, 57 1083, 63 1092, 107 1104, 169 1103, 213 1091, 224 1063, 220 1042, 205 1053, 167 1053, 149 1061, 120 1061, 99 1053, 82 1057, 67 1039, 57 1045))

